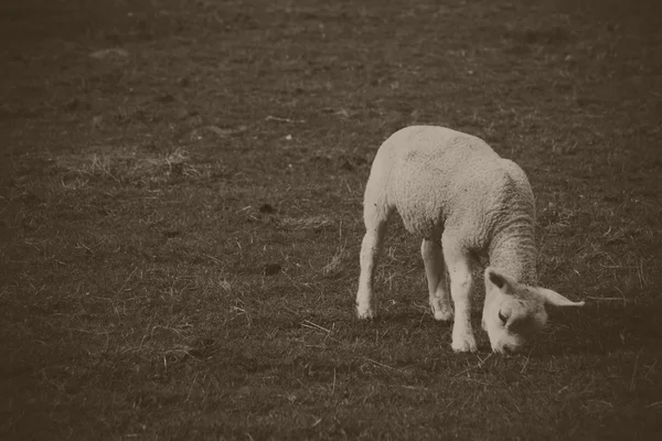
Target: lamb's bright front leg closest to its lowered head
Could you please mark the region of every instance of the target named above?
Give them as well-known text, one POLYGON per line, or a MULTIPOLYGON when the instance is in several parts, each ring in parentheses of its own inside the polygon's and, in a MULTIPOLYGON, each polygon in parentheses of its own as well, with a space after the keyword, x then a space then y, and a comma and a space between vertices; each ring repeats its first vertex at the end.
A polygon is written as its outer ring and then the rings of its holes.
POLYGON ((451 347, 455 352, 476 352, 471 327, 471 256, 446 234, 442 238, 444 258, 450 276, 450 295, 455 303, 451 347))

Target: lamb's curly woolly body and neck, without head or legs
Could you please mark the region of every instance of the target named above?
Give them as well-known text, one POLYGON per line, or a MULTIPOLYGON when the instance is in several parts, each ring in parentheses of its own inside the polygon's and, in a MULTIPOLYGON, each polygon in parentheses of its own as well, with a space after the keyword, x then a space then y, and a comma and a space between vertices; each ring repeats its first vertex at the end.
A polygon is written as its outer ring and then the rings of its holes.
POLYGON ((516 280, 536 281, 531 185, 520 166, 480 138, 407 127, 380 148, 372 173, 384 175, 387 203, 409 233, 430 237, 449 229, 516 280))

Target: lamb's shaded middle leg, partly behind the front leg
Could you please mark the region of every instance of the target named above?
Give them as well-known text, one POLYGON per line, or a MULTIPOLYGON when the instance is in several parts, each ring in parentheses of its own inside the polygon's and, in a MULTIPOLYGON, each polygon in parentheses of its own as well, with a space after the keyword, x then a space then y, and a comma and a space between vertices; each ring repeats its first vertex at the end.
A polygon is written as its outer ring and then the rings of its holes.
POLYGON ((430 308, 436 320, 449 321, 452 319, 450 293, 446 283, 446 263, 441 252, 440 237, 423 239, 420 255, 425 263, 425 275, 430 294, 430 308))

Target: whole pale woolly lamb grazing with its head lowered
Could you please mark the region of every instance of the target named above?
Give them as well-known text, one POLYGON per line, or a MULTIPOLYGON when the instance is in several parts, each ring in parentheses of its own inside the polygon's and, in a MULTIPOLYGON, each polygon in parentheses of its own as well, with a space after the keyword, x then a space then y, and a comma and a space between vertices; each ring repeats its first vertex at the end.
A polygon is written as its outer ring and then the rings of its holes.
POLYGON ((452 297, 453 351, 477 351, 470 322, 471 272, 485 260, 482 327, 494 352, 521 347, 545 325, 546 305, 584 305, 536 286, 531 185, 520 166, 479 138, 430 126, 395 132, 374 159, 363 208, 360 319, 376 316, 375 267, 394 209, 409 233, 423 237, 420 254, 435 319, 452 319, 452 297))

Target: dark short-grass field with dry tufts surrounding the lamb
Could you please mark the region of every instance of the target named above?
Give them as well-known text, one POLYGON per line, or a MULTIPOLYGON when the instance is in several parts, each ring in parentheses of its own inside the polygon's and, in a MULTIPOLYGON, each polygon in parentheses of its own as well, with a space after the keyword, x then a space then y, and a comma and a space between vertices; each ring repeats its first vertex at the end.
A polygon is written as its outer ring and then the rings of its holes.
MULTIPOLYGON (((0 438, 633 440, 662 431, 654 0, 0 4, 0 438), (392 224, 393 131, 526 171, 557 311, 453 354, 392 224)), ((480 295, 474 327, 480 327, 480 295)))

